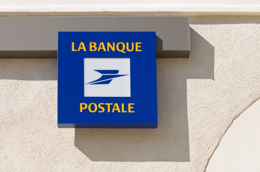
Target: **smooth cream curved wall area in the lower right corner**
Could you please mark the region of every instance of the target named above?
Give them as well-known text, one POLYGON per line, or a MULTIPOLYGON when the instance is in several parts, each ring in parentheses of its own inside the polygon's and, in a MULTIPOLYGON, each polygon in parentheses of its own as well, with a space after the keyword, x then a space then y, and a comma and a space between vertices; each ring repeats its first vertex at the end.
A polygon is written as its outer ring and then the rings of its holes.
POLYGON ((260 171, 260 99, 245 110, 221 139, 207 172, 260 171))

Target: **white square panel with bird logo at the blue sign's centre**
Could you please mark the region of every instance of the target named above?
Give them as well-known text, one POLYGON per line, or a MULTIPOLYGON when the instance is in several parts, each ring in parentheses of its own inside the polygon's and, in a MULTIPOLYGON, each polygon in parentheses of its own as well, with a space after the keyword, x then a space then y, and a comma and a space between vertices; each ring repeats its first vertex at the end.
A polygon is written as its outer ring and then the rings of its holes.
POLYGON ((84 58, 85 97, 130 97, 130 58, 84 58))

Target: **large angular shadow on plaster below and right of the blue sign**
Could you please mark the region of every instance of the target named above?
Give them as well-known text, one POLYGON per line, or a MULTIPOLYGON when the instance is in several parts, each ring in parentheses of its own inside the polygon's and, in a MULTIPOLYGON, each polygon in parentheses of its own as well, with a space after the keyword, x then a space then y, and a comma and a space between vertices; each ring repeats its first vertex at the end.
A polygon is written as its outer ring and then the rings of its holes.
POLYGON ((157 59, 158 129, 75 129, 92 161, 189 162, 187 79, 214 80, 214 47, 190 28, 189 59, 157 59))

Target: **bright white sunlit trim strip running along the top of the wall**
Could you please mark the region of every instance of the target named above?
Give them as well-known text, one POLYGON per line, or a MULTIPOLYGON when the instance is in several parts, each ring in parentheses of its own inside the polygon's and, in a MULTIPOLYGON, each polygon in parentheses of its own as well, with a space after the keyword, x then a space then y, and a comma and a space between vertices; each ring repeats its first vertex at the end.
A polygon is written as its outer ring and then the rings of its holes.
POLYGON ((260 12, 260 4, 90 4, 2 6, 1 12, 260 12))

